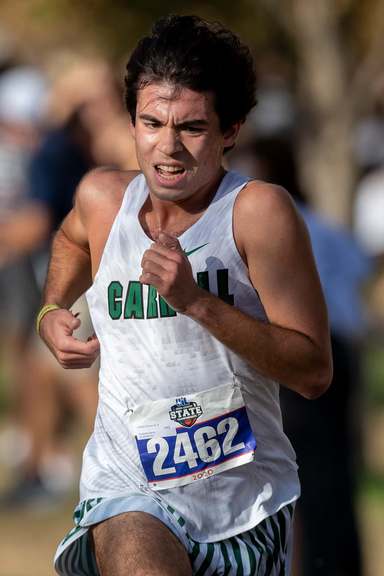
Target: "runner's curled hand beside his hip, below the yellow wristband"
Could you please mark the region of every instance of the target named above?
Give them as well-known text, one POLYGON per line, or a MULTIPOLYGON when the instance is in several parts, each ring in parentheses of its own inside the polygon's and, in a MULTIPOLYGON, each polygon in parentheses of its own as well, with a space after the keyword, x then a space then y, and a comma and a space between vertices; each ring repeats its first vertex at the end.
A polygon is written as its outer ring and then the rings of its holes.
POLYGON ((50 310, 40 321, 40 336, 65 369, 89 368, 98 357, 96 334, 88 342, 77 340, 73 331, 81 324, 69 310, 50 310))

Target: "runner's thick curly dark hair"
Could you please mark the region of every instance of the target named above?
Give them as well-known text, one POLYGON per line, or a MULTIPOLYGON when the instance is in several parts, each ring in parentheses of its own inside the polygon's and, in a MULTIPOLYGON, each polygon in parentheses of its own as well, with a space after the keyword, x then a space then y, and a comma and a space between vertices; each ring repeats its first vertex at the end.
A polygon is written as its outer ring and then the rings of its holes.
MULTIPOLYGON (((225 132, 256 106, 256 74, 249 47, 216 21, 198 16, 159 18, 136 44, 127 63, 125 102, 135 125, 140 89, 155 82, 195 92, 212 90, 225 132)), ((224 153, 233 146, 224 149, 224 153)))

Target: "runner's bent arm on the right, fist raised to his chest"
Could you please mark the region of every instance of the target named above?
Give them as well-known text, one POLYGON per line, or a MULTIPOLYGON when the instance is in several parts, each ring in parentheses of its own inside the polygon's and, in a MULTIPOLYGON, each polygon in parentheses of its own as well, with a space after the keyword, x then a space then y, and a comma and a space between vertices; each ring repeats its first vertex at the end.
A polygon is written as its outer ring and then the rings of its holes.
POLYGON ((241 194, 234 210, 234 236, 270 324, 247 316, 196 283, 189 283, 186 290, 189 263, 175 239, 161 236, 167 246, 153 245, 153 251, 173 261, 168 266, 171 276, 159 270, 160 266, 166 270, 165 260, 145 254, 142 281, 153 284, 172 308, 197 321, 259 372, 315 398, 328 388, 332 358, 326 306, 309 234, 282 189, 255 184, 241 194), (180 276, 184 276, 184 301, 177 301, 176 296, 183 294, 181 285, 174 290, 170 281, 174 278, 176 283, 178 275, 175 259, 180 276), (159 280, 154 275, 160 276, 159 280))

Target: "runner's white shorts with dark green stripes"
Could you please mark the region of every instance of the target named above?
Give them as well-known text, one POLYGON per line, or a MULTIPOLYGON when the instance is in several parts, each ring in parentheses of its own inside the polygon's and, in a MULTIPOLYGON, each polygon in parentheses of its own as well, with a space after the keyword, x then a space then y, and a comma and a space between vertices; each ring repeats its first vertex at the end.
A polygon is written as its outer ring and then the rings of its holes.
POLYGON ((188 534, 180 514, 141 492, 81 502, 73 516, 77 526, 56 552, 56 572, 60 576, 99 576, 87 536, 88 526, 128 511, 146 512, 164 522, 187 550, 194 576, 289 574, 294 503, 283 506, 247 532, 218 542, 201 543, 188 534))

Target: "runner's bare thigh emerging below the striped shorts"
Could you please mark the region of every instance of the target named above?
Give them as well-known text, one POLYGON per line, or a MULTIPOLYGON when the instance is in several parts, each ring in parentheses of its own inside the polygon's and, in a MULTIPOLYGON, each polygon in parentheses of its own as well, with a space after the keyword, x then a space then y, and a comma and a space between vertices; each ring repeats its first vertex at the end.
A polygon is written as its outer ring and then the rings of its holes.
POLYGON ((183 544, 151 514, 119 514, 88 533, 100 576, 192 576, 183 544))

